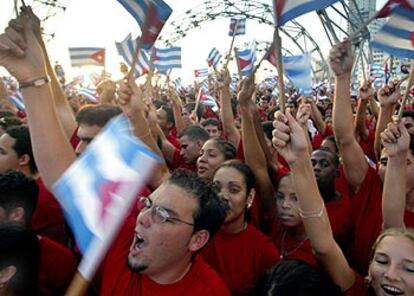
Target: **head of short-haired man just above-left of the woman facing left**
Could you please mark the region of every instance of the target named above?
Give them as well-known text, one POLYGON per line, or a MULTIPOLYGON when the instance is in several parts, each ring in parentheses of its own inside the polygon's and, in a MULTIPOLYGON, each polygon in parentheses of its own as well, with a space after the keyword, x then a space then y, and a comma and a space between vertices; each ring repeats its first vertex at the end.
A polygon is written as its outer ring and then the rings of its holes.
POLYGON ((180 132, 180 155, 186 164, 196 163, 201 147, 209 138, 208 132, 198 125, 186 127, 180 132))

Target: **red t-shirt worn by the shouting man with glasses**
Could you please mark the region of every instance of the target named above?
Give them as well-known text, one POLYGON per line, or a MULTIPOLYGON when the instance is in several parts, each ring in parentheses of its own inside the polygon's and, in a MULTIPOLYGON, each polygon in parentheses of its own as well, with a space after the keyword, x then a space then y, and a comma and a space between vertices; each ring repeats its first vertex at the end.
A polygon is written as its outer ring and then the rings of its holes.
POLYGON ((200 256, 196 256, 190 271, 177 283, 161 285, 148 276, 132 272, 127 267, 135 219, 128 218, 112 245, 102 266, 101 295, 145 296, 227 296, 230 295, 223 280, 200 256))

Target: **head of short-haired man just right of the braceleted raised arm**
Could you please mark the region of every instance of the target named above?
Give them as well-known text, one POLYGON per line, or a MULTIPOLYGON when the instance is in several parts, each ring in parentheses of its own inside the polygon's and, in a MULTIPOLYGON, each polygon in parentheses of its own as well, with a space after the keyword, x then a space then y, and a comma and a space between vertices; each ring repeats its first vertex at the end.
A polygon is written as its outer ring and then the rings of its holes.
POLYGON ((319 191, 325 202, 335 199, 335 179, 339 176, 339 157, 327 148, 312 152, 311 161, 319 191))

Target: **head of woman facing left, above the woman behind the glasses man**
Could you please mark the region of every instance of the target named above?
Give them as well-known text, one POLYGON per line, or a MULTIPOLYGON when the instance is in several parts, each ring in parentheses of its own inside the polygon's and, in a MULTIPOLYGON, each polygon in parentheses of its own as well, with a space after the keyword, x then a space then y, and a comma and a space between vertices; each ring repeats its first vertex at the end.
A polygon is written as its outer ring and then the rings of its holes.
POLYGON ((226 160, 236 158, 236 148, 220 138, 210 139, 204 143, 197 159, 197 173, 208 180, 213 179, 216 168, 226 160))

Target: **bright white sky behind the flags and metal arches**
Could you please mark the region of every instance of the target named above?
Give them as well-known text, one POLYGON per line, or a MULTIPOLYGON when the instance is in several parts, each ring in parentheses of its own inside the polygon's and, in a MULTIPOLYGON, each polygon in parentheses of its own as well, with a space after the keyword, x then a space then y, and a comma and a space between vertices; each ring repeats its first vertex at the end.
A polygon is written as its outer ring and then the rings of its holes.
MULTIPOLYGON (((271 5, 271 0, 259 0, 271 5)), ((8 20, 14 16, 13 0, 0 0, 0 31, 7 26, 8 20)), ((19 1, 20 2, 20 1, 19 1)), ((122 59, 118 56, 115 48, 115 41, 119 42, 128 33, 133 37, 140 34, 139 27, 135 20, 116 0, 60 0, 67 5, 65 12, 47 21, 46 32, 54 31, 55 37, 47 43, 49 55, 52 62, 58 61, 69 78, 91 71, 100 71, 99 67, 72 68, 69 60, 69 47, 105 47, 106 48, 106 70, 113 73, 113 78, 120 77, 119 63, 122 59)), ((168 24, 173 20, 182 19, 185 11, 200 5, 203 0, 165 0, 173 9, 168 24)), ((379 0, 381 5, 385 0, 379 0)), ((33 0, 26 0, 30 5, 33 0)), ((34 3, 34 11, 39 15, 45 15, 47 8, 34 3)), ((329 12, 329 11, 328 11, 329 12)), ((323 32, 323 27, 315 12, 298 18, 298 21, 308 30, 311 36, 321 47, 326 56, 330 44, 323 32)), ((346 26, 344 20, 340 24, 346 26)), ((177 46, 182 47, 182 69, 174 70, 172 78, 182 77, 184 82, 191 83, 194 79, 193 70, 206 68, 206 57, 212 47, 217 47, 222 54, 228 51, 231 38, 228 34, 229 19, 217 19, 205 23, 200 28, 188 32, 187 36, 181 39, 177 46)), ((236 38, 235 45, 242 45, 253 39, 258 41, 271 41, 273 29, 269 25, 258 24, 248 21, 246 35, 236 38)), ((341 38, 341 36, 339 36, 341 38)), ((290 40, 283 40, 287 47, 290 47, 290 40)), ((294 47, 291 47, 295 51, 294 47)), ((299 52, 294 52, 299 53, 299 52)), ((230 64, 230 70, 236 71, 235 65, 230 64)), ((259 76, 266 76, 276 70, 267 63, 264 63, 258 72, 259 76)), ((0 74, 4 70, 0 69, 0 74)))

